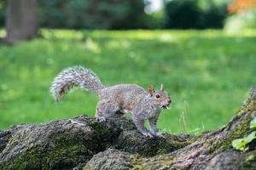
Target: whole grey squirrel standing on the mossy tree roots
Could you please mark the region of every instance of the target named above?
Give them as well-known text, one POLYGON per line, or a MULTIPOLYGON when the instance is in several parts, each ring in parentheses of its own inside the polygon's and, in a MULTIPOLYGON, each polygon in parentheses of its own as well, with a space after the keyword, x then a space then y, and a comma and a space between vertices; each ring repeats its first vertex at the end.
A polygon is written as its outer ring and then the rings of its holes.
POLYGON ((154 91, 153 86, 149 86, 148 92, 135 84, 105 87, 93 71, 82 66, 74 66, 61 71, 55 77, 50 92, 55 100, 59 101, 74 86, 98 94, 96 119, 99 122, 105 122, 106 118, 118 118, 131 113, 132 120, 140 133, 150 138, 161 136, 156 122, 161 109, 169 109, 172 102, 163 85, 160 86, 159 91, 154 91), (147 120, 149 131, 144 127, 144 122, 147 120))

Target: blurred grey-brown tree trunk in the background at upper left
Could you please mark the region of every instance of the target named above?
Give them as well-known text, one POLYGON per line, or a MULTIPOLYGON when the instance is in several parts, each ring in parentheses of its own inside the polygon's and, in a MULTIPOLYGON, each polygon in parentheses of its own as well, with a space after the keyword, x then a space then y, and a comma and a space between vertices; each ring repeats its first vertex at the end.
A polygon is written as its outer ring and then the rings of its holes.
POLYGON ((8 0, 5 30, 7 36, 3 42, 30 40, 37 36, 37 0, 8 0))

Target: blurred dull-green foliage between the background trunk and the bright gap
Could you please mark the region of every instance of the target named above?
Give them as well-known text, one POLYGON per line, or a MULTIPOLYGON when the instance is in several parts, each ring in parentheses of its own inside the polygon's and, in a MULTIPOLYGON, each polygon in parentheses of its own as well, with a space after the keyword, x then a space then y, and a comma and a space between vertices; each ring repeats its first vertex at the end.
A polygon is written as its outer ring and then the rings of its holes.
POLYGON ((52 28, 144 28, 143 0, 38 0, 40 26, 52 28))

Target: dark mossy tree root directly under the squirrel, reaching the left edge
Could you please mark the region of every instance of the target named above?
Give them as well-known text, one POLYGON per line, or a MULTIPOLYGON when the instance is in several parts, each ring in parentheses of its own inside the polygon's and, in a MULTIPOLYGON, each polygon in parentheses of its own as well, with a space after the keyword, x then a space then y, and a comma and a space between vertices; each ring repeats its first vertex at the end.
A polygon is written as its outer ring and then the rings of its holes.
POLYGON ((125 118, 99 123, 94 117, 79 116, 21 124, 0 132, 0 169, 81 168, 108 148, 148 157, 183 148, 195 139, 171 134, 166 134, 166 139, 148 139, 125 118))

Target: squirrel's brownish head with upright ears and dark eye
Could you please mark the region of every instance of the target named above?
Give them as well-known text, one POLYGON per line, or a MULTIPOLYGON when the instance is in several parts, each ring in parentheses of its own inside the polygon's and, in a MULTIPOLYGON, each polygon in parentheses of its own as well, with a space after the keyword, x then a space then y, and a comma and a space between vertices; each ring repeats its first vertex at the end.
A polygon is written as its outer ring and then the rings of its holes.
POLYGON ((160 106, 161 109, 170 109, 172 99, 170 95, 165 91, 164 85, 161 84, 159 91, 154 91, 152 85, 148 87, 150 98, 154 100, 154 105, 160 106))

